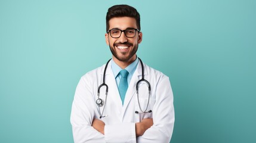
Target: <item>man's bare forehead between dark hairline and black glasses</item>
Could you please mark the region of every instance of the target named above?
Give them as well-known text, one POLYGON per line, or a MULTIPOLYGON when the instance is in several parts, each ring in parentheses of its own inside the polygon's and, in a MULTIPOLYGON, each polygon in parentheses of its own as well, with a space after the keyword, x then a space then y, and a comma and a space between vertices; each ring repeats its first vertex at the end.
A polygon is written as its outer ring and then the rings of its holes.
POLYGON ((132 27, 137 29, 136 20, 132 17, 114 17, 109 20, 109 29, 118 28, 121 30, 132 27))

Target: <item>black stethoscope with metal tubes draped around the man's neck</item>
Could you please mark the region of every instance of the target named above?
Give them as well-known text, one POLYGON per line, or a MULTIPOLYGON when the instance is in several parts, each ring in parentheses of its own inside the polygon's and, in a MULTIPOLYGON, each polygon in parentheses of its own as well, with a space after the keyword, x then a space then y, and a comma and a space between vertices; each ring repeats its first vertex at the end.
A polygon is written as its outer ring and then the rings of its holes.
MULTIPOLYGON (((111 59, 110 59, 110 60, 111 60, 111 59)), ((109 61, 110 61, 110 60, 109 60, 109 61)), ((140 58, 138 58, 138 60, 140 60, 140 58)), ((107 64, 106 64, 105 69, 104 69, 103 83, 102 83, 100 86, 98 86, 98 99, 96 100, 96 104, 98 105, 98 114, 100 114, 100 119, 101 119, 102 117, 107 117, 107 115, 103 116, 103 112, 104 112, 105 105, 106 105, 106 102, 107 102, 107 92, 109 91, 109 86, 107 86, 107 84, 105 83, 105 75, 106 75, 107 65, 109 64, 109 61, 107 61, 107 64), (101 98, 100 98, 100 88, 101 88, 102 86, 106 86, 106 97, 105 97, 105 100, 104 100, 105 102, 104 102, 103 100, 101 100, 101 98), (105 104, 105 105, 104 105, 104 104, 105 104), (101 111, 100 111, 100 107, 102 107, 102 106, 103 106, 103 110, 102 110, 102 112, 101 112, 101 111)), ((139 106, 139 107, 140 107, 140 100, 139 100, 139 98, 138 98, 138 84, 139 84, 140 82, 146 82, 146 83, 147 83, 147 86, 148 86, 148 88, 149 88, 149 98, 150 98, 150 91, 151 91, 150 83, 149 83, 146 79, 144 79, 144 67, 143 67, 143 63, 142 63, 141 60, 140 60, 140 64, 141 64, 141 73, 142 73, 142 77, 141 77, 141 79, 138 80, 138 82, 136 83, 136 93, 137 93, 137 99, 138 99, 138 106, 139 106)), ((149 107, 149 99, 147 100, 147 107, 149 107)), ((147 111, 147 107, 146 107, 146 110, 144 110, 144 111, 143 111, 143 110, 141 109, 141 107, 140 107, 140 111, 141 111, 141 112, 135 111, 135 113, 136 113, 136 114, 151 113, 152 110, 147 111)))

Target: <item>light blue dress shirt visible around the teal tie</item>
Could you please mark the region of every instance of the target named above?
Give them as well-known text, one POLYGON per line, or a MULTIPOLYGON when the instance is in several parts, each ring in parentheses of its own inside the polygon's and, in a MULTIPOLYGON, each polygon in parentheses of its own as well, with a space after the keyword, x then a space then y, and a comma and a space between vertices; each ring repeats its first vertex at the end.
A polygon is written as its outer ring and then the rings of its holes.
MULTIPOLYGON (((118 73, 119 73, 119 71, 122 70, 122 68, 119 67, 119 66, 115 63, 115 61, 113 61, 113 59, 111 60, 111 62, 112 62, 112 63, 111 63, 111 69, 112 69, 113 74, 114 74, 114 76, 115 76, 115 78, 116 78, 116 85, 119 86, 119 82, 120 82, 120 79, 121 79, 121 74, 118 74, 118 73)), ((136 60, 135 60, 134 62, 132 62, 129 66, 127 66, 127 67, 125 68, 125 70, 127 70, 128 73, 129 73, 128 76, 127 76, 127 83, 128 83, 128 86, 129 86, 129 82, 131 82, 131 77, 132 77, 134 71, 136 70, 137 65, 138 65, 138 58, 136 58, 136 60)))

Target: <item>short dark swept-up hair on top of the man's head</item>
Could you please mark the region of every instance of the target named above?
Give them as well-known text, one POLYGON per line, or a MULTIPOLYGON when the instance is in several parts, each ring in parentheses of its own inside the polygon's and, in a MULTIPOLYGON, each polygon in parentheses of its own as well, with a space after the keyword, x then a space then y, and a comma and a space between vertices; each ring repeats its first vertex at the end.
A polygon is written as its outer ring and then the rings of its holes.
POLYGON ((140 14, 129 5, 114 5, 109 8, 106 15, 106 31, 109 30, 109 20, 114 17, 132 17, 135 18, 137 29, 140 30, 140 14))

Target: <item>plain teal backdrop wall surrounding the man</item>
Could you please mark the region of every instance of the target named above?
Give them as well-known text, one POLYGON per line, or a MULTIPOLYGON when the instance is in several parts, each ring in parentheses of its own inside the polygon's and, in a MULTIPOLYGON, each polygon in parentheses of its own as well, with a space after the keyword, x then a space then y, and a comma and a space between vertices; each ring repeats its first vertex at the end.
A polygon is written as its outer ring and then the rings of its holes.
POLYGON ((256 142, 256 1, 0 0, 0 142, 73 142, 80 77, 111 57, 107 8, 141 14, 138 56, 171 80, 171 142, 256 142))

